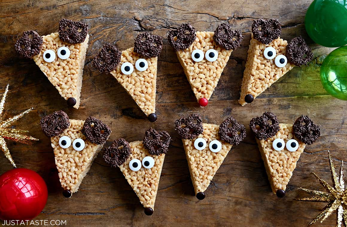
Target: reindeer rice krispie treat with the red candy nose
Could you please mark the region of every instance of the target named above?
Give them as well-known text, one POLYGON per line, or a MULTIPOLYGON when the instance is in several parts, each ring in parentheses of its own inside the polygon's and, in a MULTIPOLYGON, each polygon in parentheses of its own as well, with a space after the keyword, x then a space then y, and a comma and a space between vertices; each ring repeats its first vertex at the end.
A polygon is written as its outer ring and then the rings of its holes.
POLYGON ((200 106, 208 104, 231 52, 242 40, 242 33, 232 30, 228 23, 219 25, 214 32, 195 32, 190 24, 169 31, 168 41, 175 48, 200 106))

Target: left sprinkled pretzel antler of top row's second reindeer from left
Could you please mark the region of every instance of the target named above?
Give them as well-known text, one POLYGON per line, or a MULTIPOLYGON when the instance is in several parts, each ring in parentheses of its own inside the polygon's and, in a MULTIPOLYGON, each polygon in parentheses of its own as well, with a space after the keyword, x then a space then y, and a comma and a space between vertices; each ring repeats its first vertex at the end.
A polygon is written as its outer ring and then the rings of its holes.
POLYGON ((122 53, 115 45, 105 44, 98 55, 94 57, 92 66, 101 73, 109 73, 117 68, 121 55, 122 53))

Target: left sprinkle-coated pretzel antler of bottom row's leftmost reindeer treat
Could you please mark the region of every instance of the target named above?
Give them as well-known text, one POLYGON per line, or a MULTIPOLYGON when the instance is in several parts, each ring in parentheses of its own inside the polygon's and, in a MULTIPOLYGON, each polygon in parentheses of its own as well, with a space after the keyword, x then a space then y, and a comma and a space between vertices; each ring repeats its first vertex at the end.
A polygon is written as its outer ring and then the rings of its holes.
POLYGON ((58 136, 65 129, 69 128, 70 121, 68 115, 60 110, 42 117, 40 124, 43 134, 47 137, 53 137, 58 136))

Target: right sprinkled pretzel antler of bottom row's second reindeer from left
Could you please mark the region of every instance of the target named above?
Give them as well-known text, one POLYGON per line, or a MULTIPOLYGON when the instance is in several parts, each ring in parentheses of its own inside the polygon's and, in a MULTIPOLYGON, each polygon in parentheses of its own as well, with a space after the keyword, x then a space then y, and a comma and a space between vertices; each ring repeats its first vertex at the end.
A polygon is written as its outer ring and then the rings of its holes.
POLYGON ((142 142, 144 148, 148 149, 151 155, 161 155, 168 152, 171 137, 166 131, 157 132, 155 129, 150 128, 145 132, 142 142))

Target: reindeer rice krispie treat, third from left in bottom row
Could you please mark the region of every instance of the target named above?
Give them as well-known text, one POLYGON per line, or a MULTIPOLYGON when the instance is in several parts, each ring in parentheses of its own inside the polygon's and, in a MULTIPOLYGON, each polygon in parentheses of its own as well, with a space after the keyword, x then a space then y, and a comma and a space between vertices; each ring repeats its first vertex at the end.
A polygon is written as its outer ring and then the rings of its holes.
POLYGON ((246 137, 245 126, 232 116, 218 126, 202 123, 198 114, 192 114, 176 120, 175 129, 183 141, 196 198, 202 200, 232 145, 246 137))

